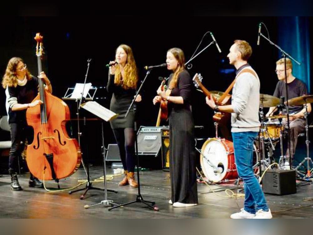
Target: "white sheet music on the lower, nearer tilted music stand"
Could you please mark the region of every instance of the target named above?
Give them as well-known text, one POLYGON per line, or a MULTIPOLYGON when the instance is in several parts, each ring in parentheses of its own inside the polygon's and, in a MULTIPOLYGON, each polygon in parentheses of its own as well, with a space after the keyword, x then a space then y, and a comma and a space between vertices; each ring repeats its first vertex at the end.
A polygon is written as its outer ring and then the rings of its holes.
POLYGON ((110 109, 103 107, 95 101, 88 101, 80 105, 80 107, 105 120, 106 122, 117 118, 118 114, 112 112, 110 109))

